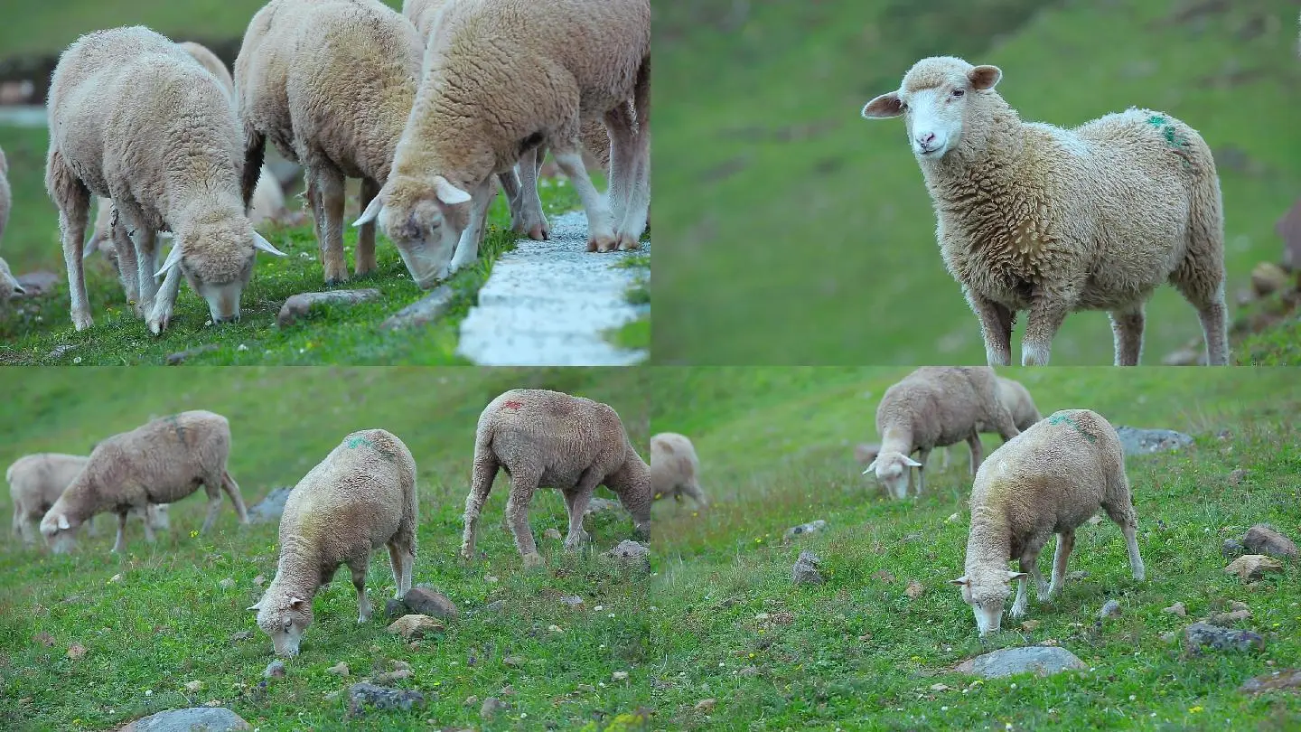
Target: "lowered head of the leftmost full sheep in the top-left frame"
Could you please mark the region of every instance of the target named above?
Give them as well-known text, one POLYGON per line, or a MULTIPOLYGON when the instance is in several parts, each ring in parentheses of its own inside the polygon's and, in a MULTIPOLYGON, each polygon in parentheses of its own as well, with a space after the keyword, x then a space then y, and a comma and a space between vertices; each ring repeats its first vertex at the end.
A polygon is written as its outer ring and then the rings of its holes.
POLYGON ((252 229, 245 216, 213 212, 176 232, 172 251, 154 276, 178 268, 186 281, 208 301, 213 323, 239 319, 239 296, 252 276, 254 254, 285 253, 252 229))

